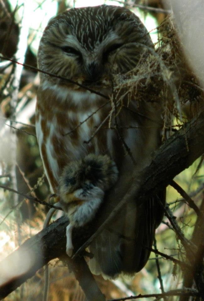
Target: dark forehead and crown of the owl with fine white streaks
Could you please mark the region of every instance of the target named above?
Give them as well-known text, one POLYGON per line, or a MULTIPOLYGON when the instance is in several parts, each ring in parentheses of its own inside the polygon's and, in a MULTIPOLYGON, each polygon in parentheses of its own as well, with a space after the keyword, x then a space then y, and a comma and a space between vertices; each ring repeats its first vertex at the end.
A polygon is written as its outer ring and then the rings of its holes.
MULTIPOLYGON (((52 19, 51 30, 58 30, 61 37, 72 34, 84 48, 92 50, 113 31, 113 21, 118 18, 119 9, 106 5, 72 8, 58 16, 55 22, 52 19)), ((120 20, 127 18, 126 10, 120 10, 120 20)))

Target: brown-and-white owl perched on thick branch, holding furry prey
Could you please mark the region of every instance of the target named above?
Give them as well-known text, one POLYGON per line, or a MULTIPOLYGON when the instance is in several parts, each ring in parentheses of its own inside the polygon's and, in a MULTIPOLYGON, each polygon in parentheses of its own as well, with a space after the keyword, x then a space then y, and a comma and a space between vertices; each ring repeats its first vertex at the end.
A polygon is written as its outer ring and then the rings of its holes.
MULTIPOLYGON (((90 198, 86 200, 71 195, 80 186, 74 187, 74 181, 66 182, 66 176, 73 172, 72 164, 83 173, 88 164, 83 160, 93 154, 96 161, 107 155, 112 168, 117 166, 118 180, 115 174, 114 181, 107 180, 110 185, 100 187, 102 202, 111 186, 117 192, 125 189, 133 171, 139 175, 160 144, 161 103, 146 99, 138 102, 136 94, 116 93, 114 87, 115 78, 133 70, 148 48, 153 50, 153 43, 140 19, 130 10, 116 6, 69 9, 52 18, 43 33, 38 66, 58 77, 40 72, 36 133, 51 191, 62 194, 68 216, 71 209, 66 202, 72 202, 72 209, 79 214, 80 206, 93 202, 97 195, 91 198, 91 186, 90 198)), ((89 184, 94 185, 91 180, 89 184)), ((114 221, 90 245, 94 257, 89 267, 93 273, 115 277, 121 272, 142 269, 163 216, 158 197, 165 202, 161 192, 139 206, 137 199, 130 196, 114 221)), ((93 207, 90 219, 99 206, 93 207)), ((67 240, 68 237, 69 233, 67 240)), ((71 254, 70 249, 67 253, 71 254)))

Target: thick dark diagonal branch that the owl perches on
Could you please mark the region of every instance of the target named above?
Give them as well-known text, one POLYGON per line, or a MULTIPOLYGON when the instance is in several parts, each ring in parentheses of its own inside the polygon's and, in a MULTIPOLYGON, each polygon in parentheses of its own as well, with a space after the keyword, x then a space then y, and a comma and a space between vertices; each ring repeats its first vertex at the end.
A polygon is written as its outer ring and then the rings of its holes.
MULTIPOLYGON (((124 203, 134 193, 137 202, 160 191, 181 171, 189 167, 204 153, 204 112, 185 124, 157 150, 150 166, 144 171, 144 180, 135 179, 123 195, 115 193, 111 202, 105 202, 104 208, 95 219, 85 227, 73 231, 73 244, 76 254, 81 253, 93 238, 102 231, 124 203), (186 143, 188 147, 186 147, 186 143), (118 200, 120 202, 118 203, 118 200)), ((113 197, 113 196, 111 196, 113 197)), ((19 287, 51 259, 61 257, 65 251, 67 218, 62 217, 34 237, 26 240, 18 250, 0 263, 0 298, 19 287), (25 258, 30 257, 29 264, 25 258), (9 269, 8 269, 9 268, 9 269), (3 271, 3 272, 2 272, 3 271)), ((76 257, 76 256, 75 256, 76 257)), ((71 259, 67 258, 72 262, 71 259)))

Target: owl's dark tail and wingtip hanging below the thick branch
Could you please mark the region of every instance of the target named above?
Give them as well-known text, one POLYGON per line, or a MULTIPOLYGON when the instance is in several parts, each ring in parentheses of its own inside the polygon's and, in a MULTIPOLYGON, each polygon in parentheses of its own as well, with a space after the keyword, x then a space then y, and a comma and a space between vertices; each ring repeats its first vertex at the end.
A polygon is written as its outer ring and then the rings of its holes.
POLYGON ((148 261, 155 230, 163 218, 160 201, 165 204, 165 190, 146 200, 140 207, 136 202, 115 217, 110 227, 90 245, 94 258, 89 261, 93 274, 115 277, 121 272, 139 272, 148 261), (132 224, 132 221, 135 221, 132 224))

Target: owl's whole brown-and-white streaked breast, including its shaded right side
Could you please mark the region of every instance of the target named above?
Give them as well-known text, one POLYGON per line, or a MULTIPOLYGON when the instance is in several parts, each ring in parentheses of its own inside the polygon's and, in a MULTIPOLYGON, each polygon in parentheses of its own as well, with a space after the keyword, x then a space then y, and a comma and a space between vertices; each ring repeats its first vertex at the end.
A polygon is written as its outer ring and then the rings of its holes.
POLYGON ((36 134, 53 192, 63 167, 90 153, 109 155, 122 174, 130 174, 135 166, 142 169, 158 147, 159 124, 155 126, 151 119, 159 111, 149 114, 145 105, 140 110, 142 119, 130 102, 115 119, 111 101, 97 94, 42 85, 37 96, 36 134))

